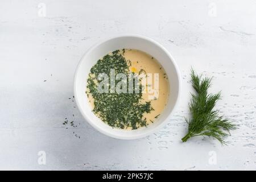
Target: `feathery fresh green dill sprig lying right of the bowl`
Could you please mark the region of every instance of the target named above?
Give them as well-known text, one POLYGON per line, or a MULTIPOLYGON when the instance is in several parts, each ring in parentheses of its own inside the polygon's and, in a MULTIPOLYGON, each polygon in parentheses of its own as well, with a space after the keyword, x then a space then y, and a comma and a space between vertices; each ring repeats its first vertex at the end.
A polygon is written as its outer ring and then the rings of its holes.
POLYGON ((230 135, 229 131, 236 129, 236 125, 218 115, 219 110, 214 110, 216 102, 221 99, 221 92, 208 94, 212 78, 202 78, 191 70, 192 86, 196 94, 191 94, 189 111, 191 119, 185 118, 188 123, 188 133, 181 140, 186 142, 195 136, 208 136, 217 139, 221 144, 226 144, 224 138, 230 135), (225 132, 226 131, 226 132, 225 132))

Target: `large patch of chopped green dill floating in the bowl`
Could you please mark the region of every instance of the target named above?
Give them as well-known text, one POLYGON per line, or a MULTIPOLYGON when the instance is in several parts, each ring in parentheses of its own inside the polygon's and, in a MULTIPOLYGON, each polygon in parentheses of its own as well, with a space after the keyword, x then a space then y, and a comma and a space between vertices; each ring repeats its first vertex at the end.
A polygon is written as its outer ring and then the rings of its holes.
MULTIPOLYGON (((88 92, 94 100, 94 114, 109 126, 120 129, 127 127, 137 129, 138 127, 147 126, 146 118, 143 118, 143 114, 150 113, 152 110, 151 104, 150 102, 141 103, 141 84, 139 85, 139 93, 110 93, 110 86, 109 93, 98 93, 96 78, 100 73, 106 73, 110 77, 110 69, 115 69, 115 74, 124 73, 128 79, 130 65, 130 60, 126 60, 119 50, 113 51, 111 55, 106 55, 97 61, 90 69, 87 80, 88 92)), ((128 82, 128 80, 126 81, 128 82)))

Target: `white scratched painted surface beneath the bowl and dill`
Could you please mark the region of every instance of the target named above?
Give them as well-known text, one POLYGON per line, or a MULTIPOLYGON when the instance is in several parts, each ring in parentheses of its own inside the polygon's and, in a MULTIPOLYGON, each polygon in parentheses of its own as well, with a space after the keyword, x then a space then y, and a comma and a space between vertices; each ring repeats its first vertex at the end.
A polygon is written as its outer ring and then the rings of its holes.
POLYGON ((255 10, 253 0, 0 1, 0 169, 256 169, 255 10), (86 49, 123 33, 163 44, 183 84, 167 125, 129 141, 98 133, 72 99, 86 49), (218 109, 240 125, 228 146, 181 143, 191 67, 214 77, 218 109))

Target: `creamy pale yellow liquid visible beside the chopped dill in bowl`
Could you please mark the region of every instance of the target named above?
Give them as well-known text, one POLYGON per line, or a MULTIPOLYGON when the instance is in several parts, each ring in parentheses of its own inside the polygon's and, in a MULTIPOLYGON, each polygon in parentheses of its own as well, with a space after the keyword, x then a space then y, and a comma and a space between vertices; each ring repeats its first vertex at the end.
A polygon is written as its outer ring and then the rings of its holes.
MULTIPOLYGON (((120 51, 122 52, 122 51, 120 51)), ((110 53, 111 54, 111 53, 110 53)), ((158 63, 158 61, 148 55, 145 52, 139 51, 137 49, 125 49, 125 52, 123 53, 123 57, 125 57, 126 61, 129 60, 129 63, 131 63, 131 66, 129 67, 130 72, 138 73, 141 71, 141 69, 144 69, 146 73, 158 73, 159 74, 159 94, 158 98, 156 100, 149 100, 148 99, 148 93, 143 93, 141 101, 144 102, 151 102, 151 106, 154 110, 152 110, 150 113, 144 113, 143 118, 146 118, 147 124, 150 125, 152 122, 154 122, 157 119, 157 116, 162 113, 164 110, 164 107, 167 104, 168 96, 169 96, 169 84, 168 84, 168 78, 166 73, 164 72, 164 69, 162 66, 158 63)), ((152 78, 152 85, 154 88, 154 77, 152 78)), ((93 105, 93 97, 88 94, 88 100, 90 102, 90 105, 92 106, 92 109, 94 107, 93 105)), ((131 127, 127 127, 127 130, 130 130, 131 127)))

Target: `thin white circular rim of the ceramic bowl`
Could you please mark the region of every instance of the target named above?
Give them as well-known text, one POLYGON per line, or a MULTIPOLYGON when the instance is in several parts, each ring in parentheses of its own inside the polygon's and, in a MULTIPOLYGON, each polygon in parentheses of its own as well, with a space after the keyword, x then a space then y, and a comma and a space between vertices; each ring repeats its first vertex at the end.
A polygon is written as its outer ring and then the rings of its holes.
POLYGON ((74 96, 75 96, 75 102, 77 107, 79 108, 80 113, 82 114, 82 116, 84 117, 84 119, 86 120, 86 122, 88 122, 94 129, 96 129, 97 131, 100 131, 100 133, 105 134, 109 137, 112 138, 117 138, 117 139, 138 139, 138 138, 143 138, 143 137, 147 137, 148 135, 155 133, 156 131, 158 131, 160 128, 162 128, 162 126, 170 119, 171 115, 175 112, 175 110, 177 109, 177 105, 179 105, 179 101, 180 101, 180 92, 181 92, 181 77, 180 77, 180 71, 179 68, 177 67, 177 64, 174 60, 174 58, 172 57, 171 53, 169 51, 167 51, 167 49, 165 47, 162 46, 162 44, 156 42, 154 39, 148 38, 147 36, 144 35, 138 35, 138 34, 120 34, 117 36, 111 36, 109 38, 105 38, 100 40, 99 42, 97 42, 96 44, 94 44, 93 46, 91 46, 90 48, 88 48, 86 50, 86 52, 84 53, 84 55, 82 55, 79 64, 77 64, 76 67, 76 71, 75 71, 75 76, 73 78, 73 92, 74 92, 74 96), (158 46, 160 49, 162 49, 166 55, 168 57, 170 57, 170 60, 172 61, 172 64, 174 64, 174 68, 175 71, 177 73, 177 82, 178 82, 178 92, 177 92, 177 99, 176 102, 174 104, 173 109, 171 110, 171 112, 168 114, 168 117, 166 119, 164 119, 164 121, 162 123, 160 123, 158 126, 153 127, 151 130, 142 133, 140 135, 133 135, 133 136, 120 136, 120 135, 115 135, 113 133, 110 133, 108 131, 105 131, 103 129, 101 129, 101 127, 98 127, 97 125, 94 125, 94 123, 92 121, 90 121, 90 119, 87 117, 87 115, 84 113, 84 111, 82 111, 81 105, 79 104, 79 102, 77 102, 78 96, 77 96, 77 89, 76 89, 76 85, 77 85, 77 75, 78 75, 78 71, 82 65, 82 62, 84 60, 84 58, 88 55, 88 53, 90 53, 94 48, 97 48, 98 46, 100 46, 101 44, 108 42, 109 40, 112 39, 117 39, 117 38, 123 38, 123 37, 133 37, 133 38, 139 38, 139 39, 144 39, 147 40, 148 42, 151 42, 152 44, 155 44, 156 46, 158 46))

